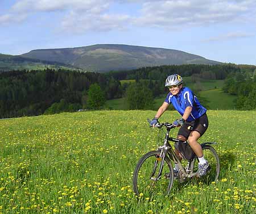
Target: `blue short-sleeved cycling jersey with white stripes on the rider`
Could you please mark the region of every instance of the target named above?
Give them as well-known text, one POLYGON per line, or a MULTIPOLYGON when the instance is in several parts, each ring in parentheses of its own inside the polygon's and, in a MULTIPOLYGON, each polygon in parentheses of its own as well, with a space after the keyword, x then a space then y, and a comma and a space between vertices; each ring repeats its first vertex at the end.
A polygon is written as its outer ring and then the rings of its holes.
POLYGON ((182 87, 177 95, 172 95, 169 93, 164 102, 167 102, 168 104, 172 103, 174 108, 180 113, 181 116, 183 116, 185 108, 191 106, 192 112, 187 121, 196 120, 207 112, 207 109, 201 105, 197 97, 188 87, 182 87))

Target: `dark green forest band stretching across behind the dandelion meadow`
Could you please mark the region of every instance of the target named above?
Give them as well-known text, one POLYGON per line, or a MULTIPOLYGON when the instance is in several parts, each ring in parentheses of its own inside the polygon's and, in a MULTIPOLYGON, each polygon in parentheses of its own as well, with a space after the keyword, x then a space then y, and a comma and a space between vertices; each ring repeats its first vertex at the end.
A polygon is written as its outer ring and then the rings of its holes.
POLYGON ((0 72, 0 118, 100 109, 105 100, 122 97, 127 98, 130 109, 150 109, 148 103, 165 93, 164 81, 173 73, 190 76, 195 82, 225 79, 223 90, 237 95, 236 108, 251 110, 256 108, 255 71, 256 66, 222 64, 156 66, 109 73, 64 69, 0 72), (121 85, 123 79, 135 82, 121 85), (136 99, 136 95, 147 99, 136 99))

